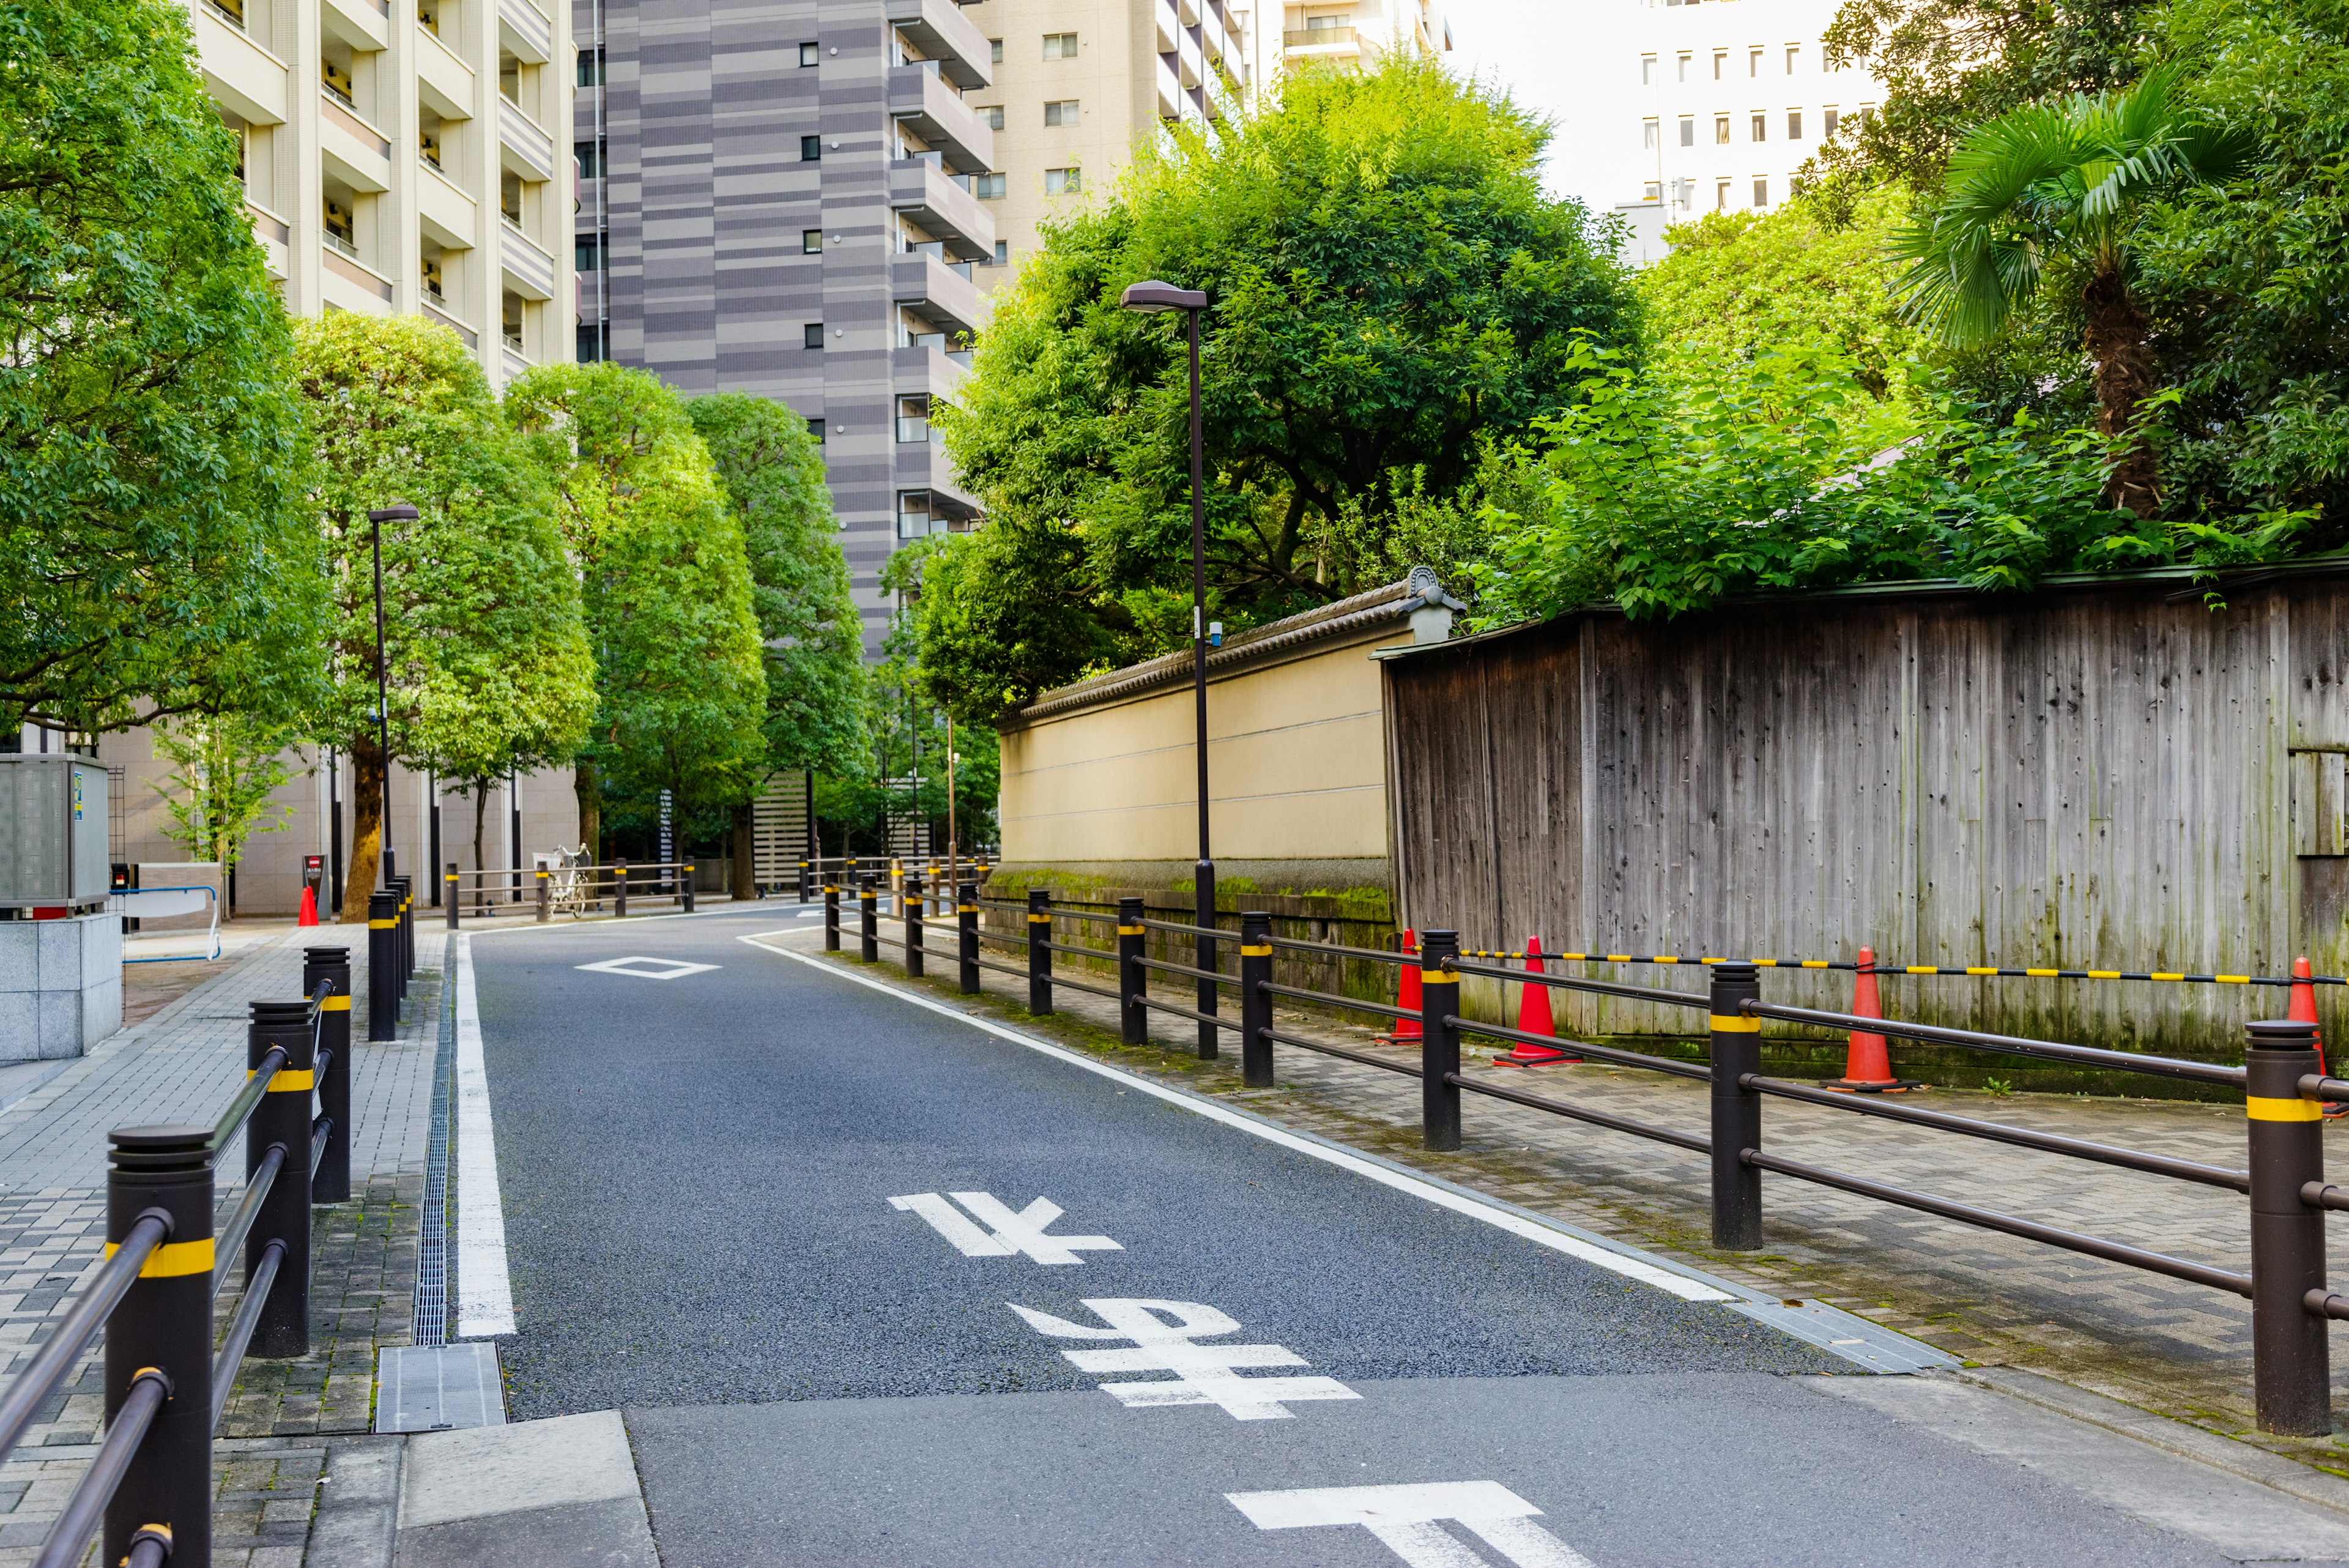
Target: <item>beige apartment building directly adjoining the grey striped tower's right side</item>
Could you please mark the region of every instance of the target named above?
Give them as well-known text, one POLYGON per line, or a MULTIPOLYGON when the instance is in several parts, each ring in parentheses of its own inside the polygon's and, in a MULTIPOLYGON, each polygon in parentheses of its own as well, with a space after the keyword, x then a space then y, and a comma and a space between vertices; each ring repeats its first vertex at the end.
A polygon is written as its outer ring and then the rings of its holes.
POLYGON ((1038 244, 1036 226, 1182 120, 1221 120, 1254 85, 1247 5, 1226 0, 977 0, 963 9, 996 49, 980 113, 996 132, 977 188, 996 219, 991 289, 1038 244))

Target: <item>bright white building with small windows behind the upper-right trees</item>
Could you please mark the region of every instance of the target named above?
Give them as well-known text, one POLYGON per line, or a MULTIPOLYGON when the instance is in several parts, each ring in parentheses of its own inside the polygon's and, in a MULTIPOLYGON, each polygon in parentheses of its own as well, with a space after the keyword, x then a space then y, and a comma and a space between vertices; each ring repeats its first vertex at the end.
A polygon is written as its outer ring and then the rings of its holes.
POLYGON ((1703 212, 1769 212, 1844 118, 1875 113, 1877 80, 1830 68, 1820 35, 1837 0, 1626 0, 1593 52, 1588 101, 1607 108, 1576 148, 1630 219, 1633 259, 1703 212))

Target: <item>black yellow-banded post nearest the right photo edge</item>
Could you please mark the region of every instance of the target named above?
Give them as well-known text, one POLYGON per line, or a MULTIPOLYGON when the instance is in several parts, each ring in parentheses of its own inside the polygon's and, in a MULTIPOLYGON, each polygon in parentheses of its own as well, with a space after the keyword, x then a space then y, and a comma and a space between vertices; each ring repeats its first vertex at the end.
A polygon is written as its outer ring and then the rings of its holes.
POLYGON ((2326 1180, 2323 1105, 2300 1095, 2316 1067, 2316 1025, 2243 1025, 2243 1110, 2250 1128, 2250 1363, 2262 1432, 2333 1432, 2328 1319, 2307 1298, 2326 1291, 2326 1211, 2300 1197, 2326 1180))

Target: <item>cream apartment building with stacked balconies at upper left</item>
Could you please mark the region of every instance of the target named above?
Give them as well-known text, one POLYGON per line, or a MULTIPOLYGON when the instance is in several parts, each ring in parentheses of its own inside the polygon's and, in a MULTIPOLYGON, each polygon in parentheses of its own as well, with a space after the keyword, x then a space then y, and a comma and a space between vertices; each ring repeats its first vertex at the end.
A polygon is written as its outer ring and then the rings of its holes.
POLYGON ((493 386, 568 360, 571 19, 547 0, 188 0, 296 315, 428 315, 493 386))

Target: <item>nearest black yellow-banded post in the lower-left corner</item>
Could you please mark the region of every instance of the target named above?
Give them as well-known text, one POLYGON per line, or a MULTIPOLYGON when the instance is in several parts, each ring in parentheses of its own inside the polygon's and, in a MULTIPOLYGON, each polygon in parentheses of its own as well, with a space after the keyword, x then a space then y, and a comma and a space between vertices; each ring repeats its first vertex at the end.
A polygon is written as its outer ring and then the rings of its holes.
POLYGON ((160 1523, 183 1566, 209 1563, 211 1128, 117 1126, 106 1140, 106 1239, 120 1246, 143 1213, 171 1225, 106 1319, 106 1420, 113 1425, 141 1368, 157 1368, 171 1396, 106 1505, 99 1561, 122 1561, 132 1535, 160 1523))

